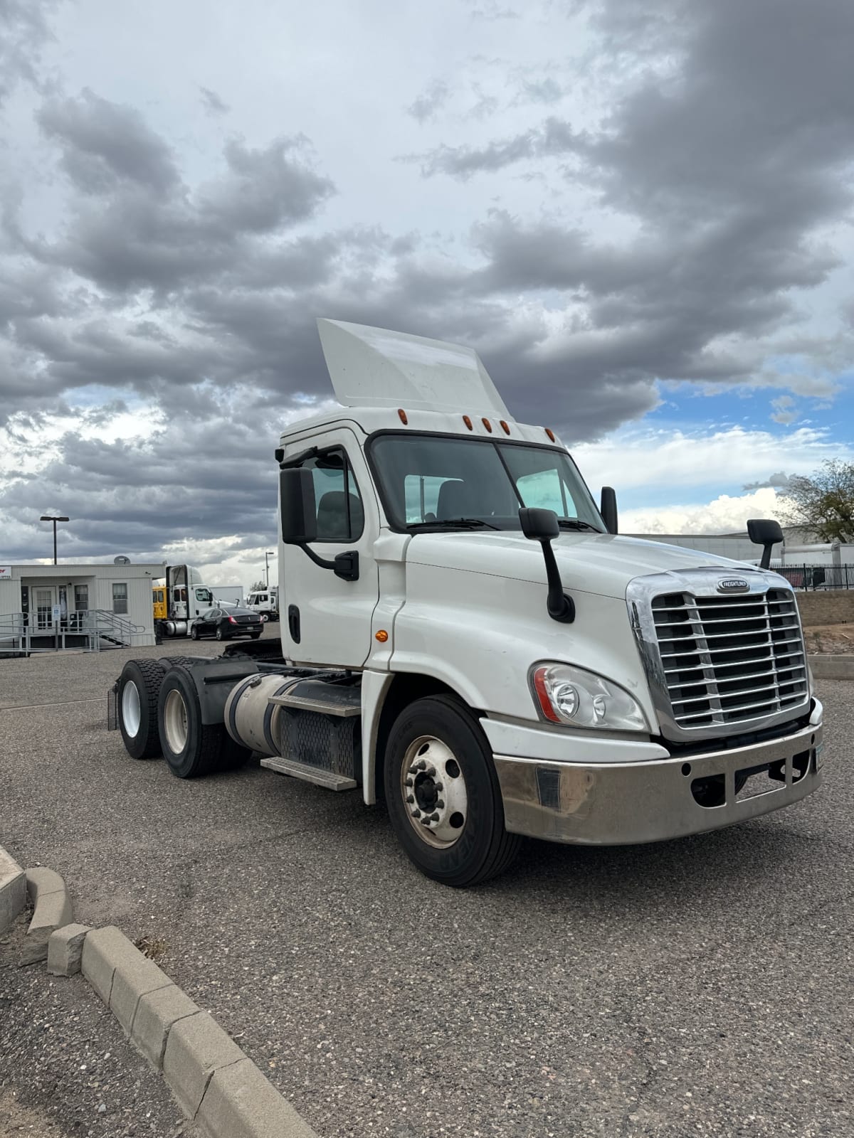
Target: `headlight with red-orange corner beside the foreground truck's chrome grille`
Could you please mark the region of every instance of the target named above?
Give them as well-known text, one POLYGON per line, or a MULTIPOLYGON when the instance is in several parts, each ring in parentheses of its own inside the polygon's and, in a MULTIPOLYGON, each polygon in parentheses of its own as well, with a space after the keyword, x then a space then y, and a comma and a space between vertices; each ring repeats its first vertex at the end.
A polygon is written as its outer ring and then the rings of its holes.
POLYGON ((545 663, 534 669, 536 701, 550 723, 606 731, 649 732, 641 706, 624 687, 568 663, 545 663))

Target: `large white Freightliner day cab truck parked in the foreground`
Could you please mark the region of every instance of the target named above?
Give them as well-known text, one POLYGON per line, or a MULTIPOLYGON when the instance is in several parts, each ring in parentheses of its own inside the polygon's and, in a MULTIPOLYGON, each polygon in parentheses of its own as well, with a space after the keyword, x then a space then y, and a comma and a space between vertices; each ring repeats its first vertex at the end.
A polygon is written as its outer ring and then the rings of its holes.
POLYGON ((131 756, 189 778, 255 752, 384 800, 450 885, 501 872, 524 834, 659 841, 818 787, 785 578, 617 536, 613 490, 598 509, 475 352, 319 328, 342 406, 276 450, 280 643, 128 662, 113 725, 131 756))

